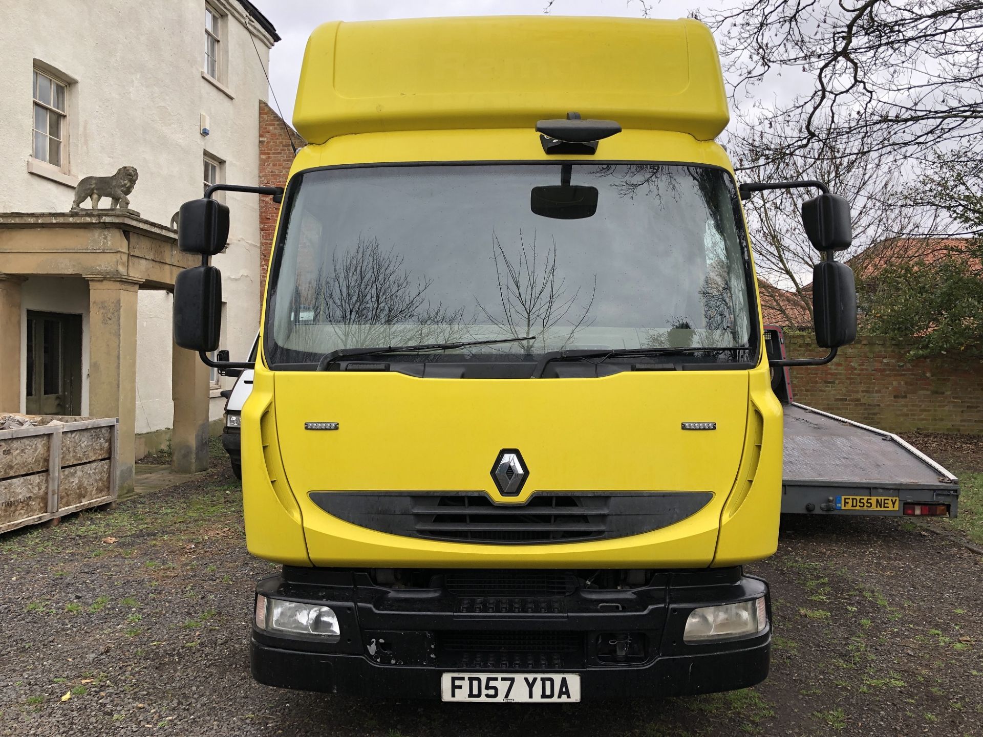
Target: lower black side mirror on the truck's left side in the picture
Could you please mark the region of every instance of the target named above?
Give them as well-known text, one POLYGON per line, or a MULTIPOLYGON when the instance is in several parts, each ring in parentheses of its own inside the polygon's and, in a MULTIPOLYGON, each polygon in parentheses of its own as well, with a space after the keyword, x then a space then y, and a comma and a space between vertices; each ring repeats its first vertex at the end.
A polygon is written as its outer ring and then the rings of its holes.
POLYGON ((174 342, 189 351, 214 351, 221 320, 222 275, 218 269, 182 269, 174 279, 174 342))

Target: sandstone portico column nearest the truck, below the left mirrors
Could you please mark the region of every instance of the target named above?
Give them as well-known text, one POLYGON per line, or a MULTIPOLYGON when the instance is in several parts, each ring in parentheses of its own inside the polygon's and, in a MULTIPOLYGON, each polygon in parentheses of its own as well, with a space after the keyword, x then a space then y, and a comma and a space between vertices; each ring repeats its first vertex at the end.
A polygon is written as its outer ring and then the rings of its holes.
POLYGON ((208 367, 194 351, 171 349, 171 468, 180 474, 208 469, 208 367))

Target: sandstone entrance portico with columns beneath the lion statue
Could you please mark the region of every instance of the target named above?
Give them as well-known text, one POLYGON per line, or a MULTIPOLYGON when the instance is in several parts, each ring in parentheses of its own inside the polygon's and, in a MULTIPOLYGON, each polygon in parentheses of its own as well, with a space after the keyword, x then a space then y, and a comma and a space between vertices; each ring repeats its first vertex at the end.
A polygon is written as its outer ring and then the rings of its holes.
MULTIPOLYGON (((173 292, 177 273, 197 263, 195 256, 178 250, 172 229, 129 210, 0 213, 0 412, 24 411, 29 397, 36 403, 43 396, 70 403, 74 414, 119 418, 117 482, 120 494, 129 491, 135 462, 138 290, 173 292), (63 311, 36 312, 36 304, 31 319, 38 326, 28 334, 29 308, 23 298, 32 278, 40 278, 42 289, 51 292, 51 305, 58 304, 59 291, 87 291, 87 304, 76 308, 83 312, 80 332, 87 324, 87 350, 78 352, 83 388, 72 387, 72 394, 63 385, 71 377, 68 369, 51 369, 50 381, 41 378, 48 367, 39 364, 74 337, 64 334, 68 323, 57 322, 56 313, 63 311)), ((32 299, 38 299, 36 290, 32 299)), ((208 369, 195 353, 173 346, 171 371, 172 465, 181 473, 203 471, 208 369)))

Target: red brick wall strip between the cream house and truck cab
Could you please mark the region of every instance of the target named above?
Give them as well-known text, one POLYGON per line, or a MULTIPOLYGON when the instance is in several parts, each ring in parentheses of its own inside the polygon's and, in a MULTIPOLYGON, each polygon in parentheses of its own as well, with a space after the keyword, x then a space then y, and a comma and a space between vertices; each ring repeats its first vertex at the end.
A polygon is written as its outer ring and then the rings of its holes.
MULTIPOLYGON (((287 174, 294 162, 291 138, 298 148, 306 143, 300 134, 284 125, 283 119, 269 105, 260 100, 260 187, 283 187, 287 183, 287 174)), ((273 231, 276 230, 279 213, 280 205, 273 198, 260 198, 260 300, 266 290, 269 250, 273 245, 273 231)))

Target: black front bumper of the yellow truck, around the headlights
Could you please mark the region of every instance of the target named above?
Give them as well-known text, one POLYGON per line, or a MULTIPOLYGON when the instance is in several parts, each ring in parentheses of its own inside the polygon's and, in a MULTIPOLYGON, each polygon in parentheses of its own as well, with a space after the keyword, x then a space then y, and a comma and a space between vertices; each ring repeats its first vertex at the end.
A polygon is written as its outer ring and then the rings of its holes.
MULTIPOLYGON (((630 591, 561 597, 467 597, 436 581, 431 589, 396 590, 368 573, 297 569, 261 581, 260 595, 331 606, 341 639, 273 637, 254 623, 254 678, 302 691, 439 699, 445 672, 577 673, 586 701, 728 691, 768 675, 770 624, 742 640, 682 640, 694 608, 767 600, 768 585, 740 569, 656 573, 630 591), (626 654, 615 655, 608 645, 615 640, 632 643, 626 654)), ((768 611, 770 618, 770 604, 768 611)))

